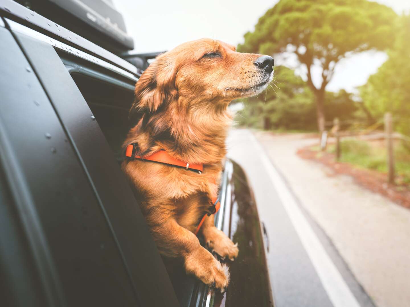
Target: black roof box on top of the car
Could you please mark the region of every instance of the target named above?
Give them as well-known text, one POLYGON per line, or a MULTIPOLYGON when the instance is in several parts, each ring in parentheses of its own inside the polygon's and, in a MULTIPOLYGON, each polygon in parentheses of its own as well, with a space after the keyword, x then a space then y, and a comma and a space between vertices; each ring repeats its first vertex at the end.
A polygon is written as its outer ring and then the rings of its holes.
POLYGON ((18 0, 38 14, 114 53, 134 49, 112 0, 18 0))

